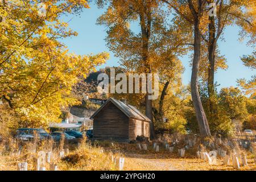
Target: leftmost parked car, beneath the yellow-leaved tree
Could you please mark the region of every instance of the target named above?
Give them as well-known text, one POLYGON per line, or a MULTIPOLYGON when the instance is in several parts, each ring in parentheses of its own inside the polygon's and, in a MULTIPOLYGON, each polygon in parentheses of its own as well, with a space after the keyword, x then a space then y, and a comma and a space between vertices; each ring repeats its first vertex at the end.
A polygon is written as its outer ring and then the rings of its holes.
POLYGON ((38 134, 40 140, 51 139, 51 135, 43 129, 18 129, 15 138, 30 141, 35 137, 35 134, 38 134))

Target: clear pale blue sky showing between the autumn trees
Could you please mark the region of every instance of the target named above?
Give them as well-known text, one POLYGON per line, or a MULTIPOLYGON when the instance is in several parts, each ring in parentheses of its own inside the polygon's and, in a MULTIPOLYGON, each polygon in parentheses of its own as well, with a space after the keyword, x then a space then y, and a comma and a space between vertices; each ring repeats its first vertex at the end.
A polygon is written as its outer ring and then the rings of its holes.
MULTIPOLYGON (((69 49, 69 52, 75 52, 80 55, 96 54, 103 51, 110 53, 110 59, 106 66, 118 66, 118 57, 114 57, 113 53, 106 47, 106 27, 96 25, 97 18, 104 13, 104 9, 97 9, 96 5, 90 5, 90 9, 85 9, 80 16, 69 15, 65 20, 72 18, 69 27, 78 32, 78 36, 64 39, 63 42, 69 49)), ((135 27, 136 28, 136 27, 135 27)), ((221 55, 225 55, 229 68, 227 70, 219 70, 216 73, 215 80, 220 84, 220 88, 228 86, 237 86, 237 78, 250 79, 255 71, 246 68, 240 57, 249 55, 254 48, 246 46, 246 40, 240 42, 238 40, 238 27, 227 27, 224 32, 225 42, 219 41, 218 47, 221 55)), ((183 74, 183 84, 188 84, 191 79, 191 67, 189 67, 189 55, 181 57, 181 61, 185 67, 183 74)))

